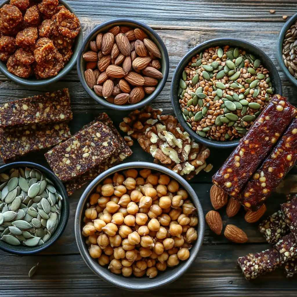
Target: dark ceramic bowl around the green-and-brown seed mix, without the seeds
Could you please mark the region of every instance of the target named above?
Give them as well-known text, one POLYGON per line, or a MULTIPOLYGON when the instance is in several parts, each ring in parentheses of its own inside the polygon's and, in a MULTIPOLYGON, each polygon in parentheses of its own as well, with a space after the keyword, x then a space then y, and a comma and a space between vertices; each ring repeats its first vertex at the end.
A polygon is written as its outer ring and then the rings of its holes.
POLYGON ((231 141, 217 141, 217 140, 210 140, 208 138, 199 136, 195 131, 190 129, 190 127, 186 124, 186 121, 182 116, 181 108, 179 107, 179 97, 177 95, 178 88, 179 88, 179 80, 181 79, 182 72, 184 71, 184 68, 188 65, 192 57, 195 56, 197 53, 200 53, 201 51, 206 50, 208 48, 216 47, 216 46, 224 46, 224 45, 230 45, 231 47, 242 48, 247 52, 255 55, 261 61, 263 61, 263 65, 269 70, 271 82, 275 89, 274 94, 282 95, 282 83, 279 78, 277 69, 275 68, 274 64, 269 59, 269 57, 262 50, 260 50, 260 48, 257 48, 255 45, 252 45, 251 43, 244 40, 239 40, 234 38, 218 38, 218 39, 208 40, 206 42, 201 43, 200 45, 197 45, 181 59, 173 74, 173 78, 171 82, 171 90, 170 90, 173 110, 178 121, 196 141, 203 143, 207 146, 227 149, 227 148, 237 146, 240 138, 231 140, 231 141))

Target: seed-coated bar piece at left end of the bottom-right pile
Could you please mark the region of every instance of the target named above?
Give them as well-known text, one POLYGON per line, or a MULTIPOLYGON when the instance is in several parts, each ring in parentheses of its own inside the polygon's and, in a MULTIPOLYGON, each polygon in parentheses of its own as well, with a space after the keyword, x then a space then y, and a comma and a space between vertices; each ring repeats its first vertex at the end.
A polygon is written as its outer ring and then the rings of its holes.
POLYGON ((273 248, 238 258, 238 265, 247 280, 255 279, 275 270, 279 263, 279 254, 273 248))

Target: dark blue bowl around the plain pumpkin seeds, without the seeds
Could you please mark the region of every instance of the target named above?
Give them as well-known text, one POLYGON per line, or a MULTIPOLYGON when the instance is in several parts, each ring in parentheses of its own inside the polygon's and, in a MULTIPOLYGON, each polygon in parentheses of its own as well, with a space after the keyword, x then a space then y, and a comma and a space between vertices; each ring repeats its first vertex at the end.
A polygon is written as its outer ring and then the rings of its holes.
POLYGON ((67 195, 66 189, 62 184, 62 182, 59 180, 59 178, 57 178, 57 176, 52 171, 48 170, 47 168, 39 164, 31 163, 31 162, 14 162, 0 167, 0 173, 8 173, 10 169, 20 168, 20 167, 38 169, 40 172, 44 173, 45 176, 54 183, 56 189, 63 197, 62 207, 61 207, 61 219, 60 219, 59 225, 56 228, 55 232, 50 237, 50 239, 45 242, 45 244, 42 244, 37 247, 26 247, 23 245, 14 246, 6 243, 5 241, 0 240, 0 249, 3 249, 4 251, 12 254, 29 255, 29 254, 34 254, 46 249, 51 244, 53 244, 53 242, 56 241, 64 232, 64 229, 67 225, 68 217, 69 217, 69 201, 68 201, 68 195, 67 195))

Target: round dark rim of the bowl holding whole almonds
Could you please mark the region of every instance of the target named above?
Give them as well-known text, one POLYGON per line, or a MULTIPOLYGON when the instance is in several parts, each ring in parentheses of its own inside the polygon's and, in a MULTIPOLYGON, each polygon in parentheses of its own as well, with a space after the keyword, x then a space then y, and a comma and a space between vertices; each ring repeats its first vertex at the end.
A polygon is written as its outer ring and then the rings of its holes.
POLYGON ((145 23, 142 23, 142 22, 140 22, 138 20, 134 20, 132 18, 114 18, 112 20, 108 20, 108 21, 106 21, 104 23, 101 23, 100 25, 96 26, 86 36, 85 40, 83 41, 83 44, 80 47, 79 53, 78 53, 77 72, 78 72, 78 78, 79 78, 80 83, 82 84, 83 88, 90 95, 90 97, 95 99, 97 102, 99 102, 100 104, 102 104, 102 105, 104 105, 106 107, 116 109, 116 110, 133 110, 133 109, 143 107, 144 105, 147 105, 151 100, 155 99, 161 93, 161 91, 163 90, 163 88, 165 86, 167 78, 168 78, 169 56, 168 56, 167 48, 166 48, 163 40, 161 39, 159 34, 157 34, 157 32, 154 29, 152 29, 150 26, 148 26, 145 23), (130 104, 130 105, 116 105, 116 104, 110 103, 110 102, 106 101, 105 99, 102 99, 101 97, 97 96, 97 94, 92 89, 90 89, 89 86, 86 84, 85 79, 83 78, 82 69, 80 67, 81 59, 83 59, 82 54, 83 54, 84 48, 85 48, 86 44, 90 41, 90 38, 92 37, 92 35, 94 35, 97 31, 104 28, 105 26, 109 26, 109 25, 115 24, 115 23, 123 23, 123 22, 132 23, 134 25, 143 27, 144 29, 149 31, 152 35, 154 35, 154 37, 158 41, 160 47, 162 48, 162 50, 164 51, 164 54, 165 54, 165 57, 162 57, 162 59, 164 59, 164 63, 165 63, 165 73, 163 74, 163 78, 161 80, 161 83, 158 83, 157 88, 155 89, 155 91, 151 95, 149 95, 149 97, 147 97, 144 100, 141 100, 138 103, 130 104))

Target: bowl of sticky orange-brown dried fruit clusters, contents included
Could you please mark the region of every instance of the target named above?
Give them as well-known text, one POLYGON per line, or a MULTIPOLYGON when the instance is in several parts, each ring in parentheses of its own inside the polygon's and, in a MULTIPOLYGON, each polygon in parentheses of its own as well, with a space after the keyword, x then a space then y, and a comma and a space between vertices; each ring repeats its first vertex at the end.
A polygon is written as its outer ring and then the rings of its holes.
POLYGON ((75 65, 83 33, 59 0, 4 1, 0 8, 0 70, 26 86, 53 83, 75 65))

